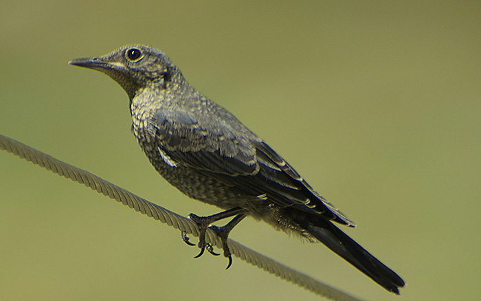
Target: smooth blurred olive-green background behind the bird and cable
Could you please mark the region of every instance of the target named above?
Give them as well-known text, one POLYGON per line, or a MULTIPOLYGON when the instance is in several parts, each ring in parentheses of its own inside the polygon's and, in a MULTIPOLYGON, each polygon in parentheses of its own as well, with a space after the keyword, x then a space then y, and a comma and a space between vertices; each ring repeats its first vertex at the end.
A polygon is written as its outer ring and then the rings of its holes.
MULTIPOLYGON (((366 300, 479 300, 480 1, 8 1, 0 133, 170 210, 110 78, 67 65, 153 45, 356 221, 396 297, 322 245, 251 219, 232 238, 366 300)), ((320 300, 0 153, 2 300, 320 300)))

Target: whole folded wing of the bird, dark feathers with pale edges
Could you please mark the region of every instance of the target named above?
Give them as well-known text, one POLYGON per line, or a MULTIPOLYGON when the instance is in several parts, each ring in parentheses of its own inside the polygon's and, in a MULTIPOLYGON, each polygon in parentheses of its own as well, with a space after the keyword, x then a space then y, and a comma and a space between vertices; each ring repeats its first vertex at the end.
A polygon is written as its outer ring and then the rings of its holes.
POLYGON ((354 226, 269 145, 226 118, 234 117, 227 113, 206 122, 189 111, 157 111, 151 129, 159 140, 158 151, 171 166, 189 166, 280 207, 354 226))

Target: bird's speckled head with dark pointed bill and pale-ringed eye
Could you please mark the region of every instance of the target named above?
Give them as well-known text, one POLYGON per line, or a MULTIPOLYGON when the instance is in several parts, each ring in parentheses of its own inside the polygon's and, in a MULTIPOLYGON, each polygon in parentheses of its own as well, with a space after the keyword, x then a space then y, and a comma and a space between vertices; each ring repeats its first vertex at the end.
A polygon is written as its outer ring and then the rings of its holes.
POLYGON ((124 88, 129 98, 145 87, 166 89, 180 71, 170 58, 153 47, 126 45, 97 58, 76 58, 69 65, 102 71, 124 88))

